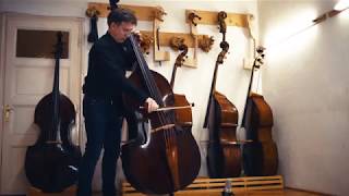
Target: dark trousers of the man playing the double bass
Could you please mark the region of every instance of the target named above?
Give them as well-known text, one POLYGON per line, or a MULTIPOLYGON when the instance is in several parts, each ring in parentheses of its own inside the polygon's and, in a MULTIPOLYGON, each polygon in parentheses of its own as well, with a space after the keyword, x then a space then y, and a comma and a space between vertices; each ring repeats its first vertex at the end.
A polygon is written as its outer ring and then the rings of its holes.
POLYGON ((103 194, 104 196, 115 196, 122 118, 117 115, 110 99, 94 98, 87 95, 83 100, 83 114, 87 143, 79 168, 77 196, 92 195, 92 180, 101 149, 104 149, 103 194))

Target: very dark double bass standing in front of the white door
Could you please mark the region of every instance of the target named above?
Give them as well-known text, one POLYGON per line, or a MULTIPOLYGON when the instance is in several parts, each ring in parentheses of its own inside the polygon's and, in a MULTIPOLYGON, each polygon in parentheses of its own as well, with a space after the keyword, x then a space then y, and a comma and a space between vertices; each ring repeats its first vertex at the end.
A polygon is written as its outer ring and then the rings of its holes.
POLYGON ((29 183, 46 193, 59 193, 76 183, 81 159, 81 150, 70 137, 75 123, 74 105, 59 91, 61 32, 57 38, 53 89, 35 108, 34 123, 39 126, 40 135, 35 145, 27 148, 25 157, 29 183))

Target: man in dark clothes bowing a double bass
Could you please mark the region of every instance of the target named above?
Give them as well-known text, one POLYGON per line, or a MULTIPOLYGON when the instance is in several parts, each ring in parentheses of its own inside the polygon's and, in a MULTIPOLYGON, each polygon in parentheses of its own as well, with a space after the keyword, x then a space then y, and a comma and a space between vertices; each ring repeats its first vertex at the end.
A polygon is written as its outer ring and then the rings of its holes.
POLYGON ((147 112, 158 109, 153 98, 125 77, 125 71, 131 70, 136 60, 129 39, 136 22, 133 13, 122 9, 112 10, 107 19, 108 32, 89 50, 88 71, 83 86, 87 143, 80 166, 77 196, 92 195, 92 179, 101 149, 103 194, 116 195, 116 168, 124 113, 122 94, 144 102, 147 112))

